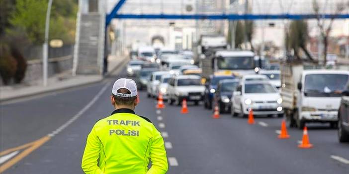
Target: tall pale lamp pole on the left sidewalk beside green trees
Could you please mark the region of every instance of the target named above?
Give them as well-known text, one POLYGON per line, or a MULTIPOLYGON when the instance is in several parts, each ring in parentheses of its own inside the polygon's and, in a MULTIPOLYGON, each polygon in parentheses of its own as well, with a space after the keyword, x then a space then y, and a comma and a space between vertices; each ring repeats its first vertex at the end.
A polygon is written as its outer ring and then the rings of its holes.
POLYGON ((42 83, 43 86, 47 86, 47 65, 48 65, 48 38, 50 28, 50 14, 51 14, 52 0, 49 0, 46 11, 46 24, 45 24, 45 40, 42 47, 42 83))

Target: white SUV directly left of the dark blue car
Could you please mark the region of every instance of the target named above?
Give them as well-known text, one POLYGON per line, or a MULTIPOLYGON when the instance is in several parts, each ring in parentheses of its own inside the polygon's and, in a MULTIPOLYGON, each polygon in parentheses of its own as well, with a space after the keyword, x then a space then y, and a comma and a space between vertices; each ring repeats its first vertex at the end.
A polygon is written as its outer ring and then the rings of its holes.
POLYGON ((197 75, 178 75, 169 80, 168 102, 180 105, 183 99, 199 104, 205 91, 205 86, 201 84, 201 77, 197 75))

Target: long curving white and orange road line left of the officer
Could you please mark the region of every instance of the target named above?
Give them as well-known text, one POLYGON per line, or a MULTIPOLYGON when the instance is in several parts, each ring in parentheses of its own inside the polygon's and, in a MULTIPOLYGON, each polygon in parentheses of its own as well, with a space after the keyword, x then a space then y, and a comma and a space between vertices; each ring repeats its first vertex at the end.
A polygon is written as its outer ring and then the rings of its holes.
POLYGON ((75 116, 73 116, 72 118, 70 118, 67 122, 65 122, 63 125, 59 126, 56 130, 52 131, 51 133, 47 134, 47 136, 44 136, 38 140, 35 140, 33 142, 21 145, 21 146, 17 146, 14 148, 10 148, 7 150, 4 150, 2 152, 0 152, 0 158, 2 158, 3 160, 3 164, 1 163, 0 166, 0 173, 2 173, 3 171, 7 170, 8 168, 10 168, 11 166, 13 166, 14 164, 18 163, 21 159, 23 159, 24 157, 28 156, 31 152, 33 152, 34 150, 36 150, 37 148, 39 148, 40 146, 42 146, 44 143, 46 143, 48 140, 50 140, 53 136, 57 135, 59 132, 61 132, 62 130, 64 130, 66 127, 68 127, 71 123, 73 123, 76 119, 78 119, 80 116, 82 116, 97 100, 98 98, 103 94, 103 92, 107 89, 107 87, 109 86, 109 83, 106 83, 105 86, 97 93, 97 95, 94 96, 94 98, 82 109, 78 112, 78 114, 76 114, 75 116), (19 150, 22 150, 20 153, 14 154, 13 152, 16 152, 19 150), (9 158, 9 154, 14 154, 11 158, 9 158), (8 159, 6 159, 6 158, 8 159), (6 160, 4 160, 6 159, 6 160), (8 160, 8 161, 7 161, 8 160), (5 162, 7 161, 7 162, 5 162))

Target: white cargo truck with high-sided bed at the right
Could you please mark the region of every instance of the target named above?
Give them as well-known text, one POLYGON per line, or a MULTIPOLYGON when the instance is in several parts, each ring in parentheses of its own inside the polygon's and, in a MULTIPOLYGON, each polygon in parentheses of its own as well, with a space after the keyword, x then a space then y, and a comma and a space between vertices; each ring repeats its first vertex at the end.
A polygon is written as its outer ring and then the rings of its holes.
POLYGON ((331 127, 337 126, 341 91, 348 84, 349 71, 315 66, 281 63, 282 107, 290 127, 302 129, 307 122, 330 122, 331 127))

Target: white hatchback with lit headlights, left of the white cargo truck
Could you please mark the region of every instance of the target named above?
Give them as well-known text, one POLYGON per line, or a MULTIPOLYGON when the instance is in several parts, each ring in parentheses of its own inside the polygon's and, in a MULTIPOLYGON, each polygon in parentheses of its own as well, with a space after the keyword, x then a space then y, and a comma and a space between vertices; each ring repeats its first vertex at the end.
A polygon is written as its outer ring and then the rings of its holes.
POLYGON ((232 115, 246 117, 250 109, 254 115, 283 116, 279 91, 268 81, 242 81, 231 98, 232 115))

